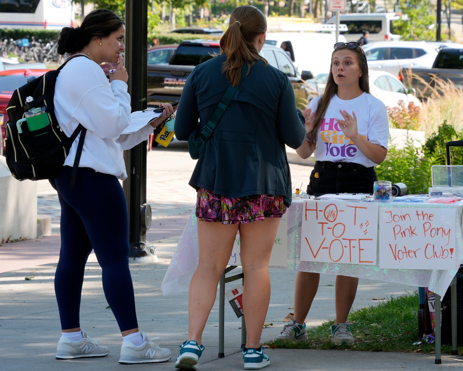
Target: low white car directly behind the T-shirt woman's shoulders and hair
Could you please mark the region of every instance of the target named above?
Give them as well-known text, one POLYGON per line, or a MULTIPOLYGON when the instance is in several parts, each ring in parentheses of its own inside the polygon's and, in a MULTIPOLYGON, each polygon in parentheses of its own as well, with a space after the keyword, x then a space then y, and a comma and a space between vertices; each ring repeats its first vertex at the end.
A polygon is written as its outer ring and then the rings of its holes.
MULTIPOLYGON (((380 99, 388 107, 399 107, 399 101, 405 104, 413 102, 421 107, 421 102, 408 90, 399 79, 391 73, 385 71, 369 70, 369 87, 370 94, 380 99)), ((325 92, 325 84, 328 74, 320 74, 315 77, 317 81, 317 90, 319 95, 325 92)))

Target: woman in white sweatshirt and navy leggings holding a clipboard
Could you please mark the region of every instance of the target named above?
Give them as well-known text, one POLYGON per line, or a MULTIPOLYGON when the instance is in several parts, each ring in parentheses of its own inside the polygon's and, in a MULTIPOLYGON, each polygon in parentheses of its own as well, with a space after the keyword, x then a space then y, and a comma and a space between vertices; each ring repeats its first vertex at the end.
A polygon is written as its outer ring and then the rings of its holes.
POLYGON ((74 188, 69 184, 82 133, 73 142, 61 173, 50 179, 61 205, 55 293, 62 337, 57 359, 109 353, 80 327, 84 269, 92 249, 102 268, 106 300, 123 337, 119 363, 164 362, 171 357, 169 349, 160 348, 138 329, 128 259, 127 203, 119 179, 127 178, 122 150, 145 141, 175 109, 165 103, 156 120, 136 133, 122 134, 131 120, 128 75, 121 56, 124 36, 124 21, 112 11, 97 9, 88 13, 80 27, 63 28, 58 41, 58 52, 69 60, 56 78, 56 119, 69 137, 79 123, 87 130, 74 188), (100 67, 103 62, 113 65, 109 82, 100 67))

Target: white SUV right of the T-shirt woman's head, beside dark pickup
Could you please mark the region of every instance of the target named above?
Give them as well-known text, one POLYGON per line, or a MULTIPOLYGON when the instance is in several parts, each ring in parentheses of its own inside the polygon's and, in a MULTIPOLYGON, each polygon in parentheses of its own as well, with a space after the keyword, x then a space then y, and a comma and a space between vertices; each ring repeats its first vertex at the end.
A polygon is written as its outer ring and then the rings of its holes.
POLYGON ((369 69, 383 70, 399 76, 401 68, 431 68, 441 44, 425 41, 383 41, 363 45, 362 48, 367 56, 369 69))

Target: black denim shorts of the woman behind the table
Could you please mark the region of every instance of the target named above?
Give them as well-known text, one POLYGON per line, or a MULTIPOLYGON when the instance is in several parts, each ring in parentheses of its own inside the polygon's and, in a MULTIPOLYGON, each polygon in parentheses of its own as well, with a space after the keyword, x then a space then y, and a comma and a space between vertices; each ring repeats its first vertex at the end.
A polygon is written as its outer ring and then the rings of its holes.
POLYGON ((375 180, 378 178, 374 167, 354 162, 316 161, 307 193, 373 193, 375 180))

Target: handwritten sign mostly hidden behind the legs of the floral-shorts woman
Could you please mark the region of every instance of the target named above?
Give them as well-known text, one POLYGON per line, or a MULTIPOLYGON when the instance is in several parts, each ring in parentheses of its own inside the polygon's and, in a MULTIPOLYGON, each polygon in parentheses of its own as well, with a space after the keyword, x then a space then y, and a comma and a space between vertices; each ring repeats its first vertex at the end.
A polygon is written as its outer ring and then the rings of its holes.
MULTIPOLYGON (((233 244, 232 256, 228 264, 230 265, 241 265, 240 250, 241 238, 239 231, 235 237, 235 243, 233 244)), ((270 266, 275 267, 286 267, 287 265, 287 249, 288 249, 288 221, 286 215, 283 215, 276 232, 275 244, 273 245, 272 255, 270 256, 270 266)))

